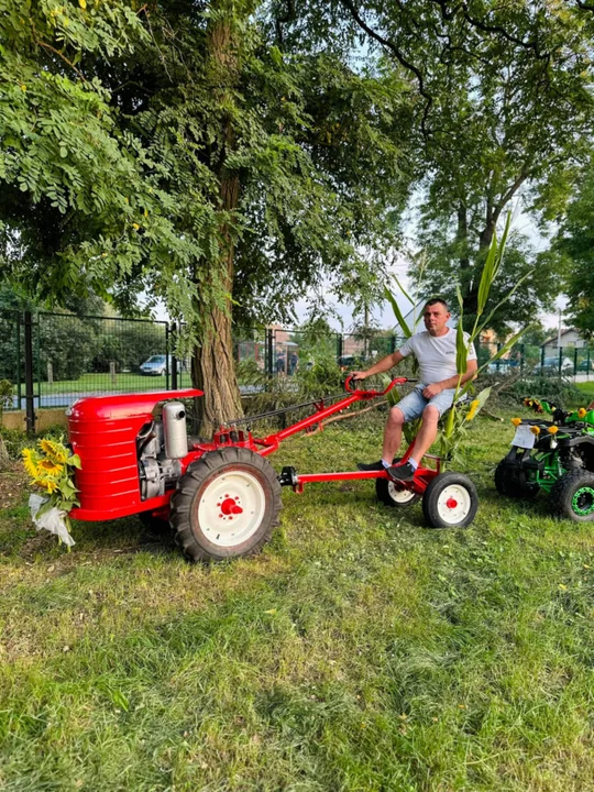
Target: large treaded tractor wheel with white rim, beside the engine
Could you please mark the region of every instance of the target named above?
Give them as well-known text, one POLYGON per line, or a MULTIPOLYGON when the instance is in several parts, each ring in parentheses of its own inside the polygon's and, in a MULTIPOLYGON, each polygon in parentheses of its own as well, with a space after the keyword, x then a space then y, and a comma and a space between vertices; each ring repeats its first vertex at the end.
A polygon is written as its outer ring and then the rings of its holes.
POLYGON ((265 459, 248 449, 226 448, 189 465, 170 505, 172 527, 184 553, 193 561, 222 561, 258 552, 278 525, 283 503, 265 459))

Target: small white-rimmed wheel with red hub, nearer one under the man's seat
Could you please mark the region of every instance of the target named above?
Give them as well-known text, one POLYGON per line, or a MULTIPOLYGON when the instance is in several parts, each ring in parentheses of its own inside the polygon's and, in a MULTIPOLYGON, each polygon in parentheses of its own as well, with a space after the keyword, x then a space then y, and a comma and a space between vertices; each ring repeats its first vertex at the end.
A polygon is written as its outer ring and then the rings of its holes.
POLYGON ((477 508, 476 487, 462 473, 440 473, 422 496, 422 514, 431 528, 464 528, 473 521, 477 508))

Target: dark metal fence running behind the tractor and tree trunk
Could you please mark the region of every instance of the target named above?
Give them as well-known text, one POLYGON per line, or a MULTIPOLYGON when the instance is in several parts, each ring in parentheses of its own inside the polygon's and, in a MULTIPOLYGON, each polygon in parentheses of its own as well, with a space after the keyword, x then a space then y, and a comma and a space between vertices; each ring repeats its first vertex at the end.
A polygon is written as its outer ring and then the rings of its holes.
MULTIPOLYGON (((63 407, 91 394, 188 387, 189 361, 175 355, 175 323, 143 319, 51 312, 0 312, 0 380, 12 386, 4 409, 28 410, 28 428, 38 407, 63 407)), ((268 376, 292 377, 320 364, 343 370, 369 367, 404 339, 386 331, 312 334, 280 328, 237 328, 234 355, 243 395, 268 376)), ((480 363, 501 344, 483 343, 480 363)), ((516 344, 491 363, 502 376, 594 378, 594 350, 516 344)))

